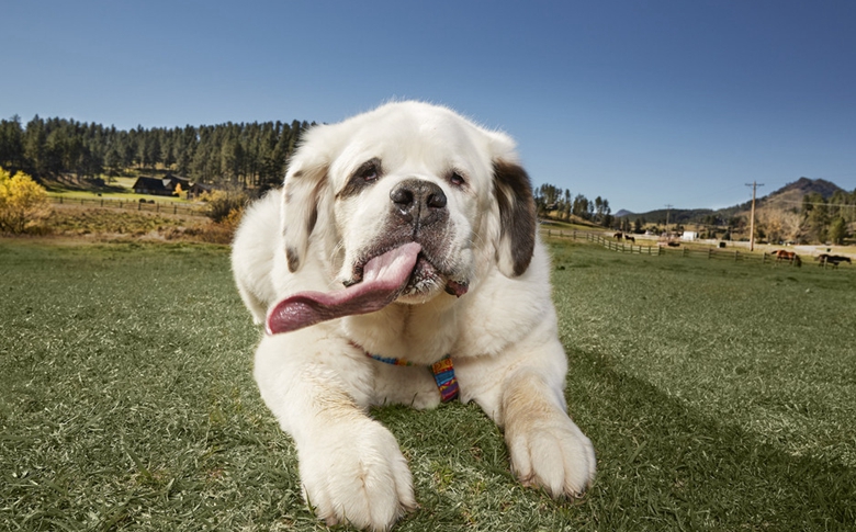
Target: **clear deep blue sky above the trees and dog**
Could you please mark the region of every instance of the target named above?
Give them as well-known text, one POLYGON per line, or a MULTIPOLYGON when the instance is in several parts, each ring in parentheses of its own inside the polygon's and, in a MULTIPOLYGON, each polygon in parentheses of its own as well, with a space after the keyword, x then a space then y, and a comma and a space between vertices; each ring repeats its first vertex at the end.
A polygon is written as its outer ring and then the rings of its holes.
POLYGON ((0 117, 337 122, 390 99, 511 134, 612 212, 856 189, 856 2, 3 1, 0 117))

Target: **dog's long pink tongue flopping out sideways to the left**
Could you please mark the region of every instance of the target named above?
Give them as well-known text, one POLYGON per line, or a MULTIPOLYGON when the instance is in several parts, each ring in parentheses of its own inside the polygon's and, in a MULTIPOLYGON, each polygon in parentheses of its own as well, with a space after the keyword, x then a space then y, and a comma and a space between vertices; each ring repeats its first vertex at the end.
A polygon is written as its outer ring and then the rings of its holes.
POLYGON ((369 314, 385 307, 406 286, 421 246, 405 244, 370 260, 362 282, 336 292, 300 292, 268 313, 268 333, 290 332, 328 319, 369 314))

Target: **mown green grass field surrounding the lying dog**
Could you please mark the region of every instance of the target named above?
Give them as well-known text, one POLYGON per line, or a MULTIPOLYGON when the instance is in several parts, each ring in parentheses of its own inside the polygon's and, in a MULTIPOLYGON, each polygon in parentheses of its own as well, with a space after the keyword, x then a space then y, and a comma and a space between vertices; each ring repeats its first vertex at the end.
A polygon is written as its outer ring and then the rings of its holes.
MULTIPOLYGON (((474 405, 376 409, 420 503, 396 531, 853 530, 855 272, 553 253, 595 486, 520 487, 474 405)), ((0 530, 325 530, 227 259, 0 240, 0 530)))

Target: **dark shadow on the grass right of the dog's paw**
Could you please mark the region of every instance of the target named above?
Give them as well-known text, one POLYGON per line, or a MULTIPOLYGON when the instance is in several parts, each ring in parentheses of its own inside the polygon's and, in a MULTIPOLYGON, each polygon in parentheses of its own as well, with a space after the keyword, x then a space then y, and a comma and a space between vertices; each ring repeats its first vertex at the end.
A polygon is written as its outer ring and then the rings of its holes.
MULTIPOLYGON (((577 350, 567 398, 595 442, 581 512, 609 530, 852 530, 856 472, 792 456, 577 350)), ((590 524, 590 522, 589 522, 590 524)))

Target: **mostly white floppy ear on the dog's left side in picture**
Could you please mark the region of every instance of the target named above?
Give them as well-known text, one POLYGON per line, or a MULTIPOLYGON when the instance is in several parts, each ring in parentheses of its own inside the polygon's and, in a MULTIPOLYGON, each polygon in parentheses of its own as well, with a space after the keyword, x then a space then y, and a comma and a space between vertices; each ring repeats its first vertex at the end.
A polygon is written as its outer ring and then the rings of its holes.
MULTIPOLYGON (((314 132, 311 132, 314 133, 314 132)), ((300 270, 306 261, 309 236, 324 217, 327 202, 327 170, 329 157, 317 148, 319 143, 309 138, 301 146, 289 162, 282 193, 282 238, 289 271, 300 270)))

